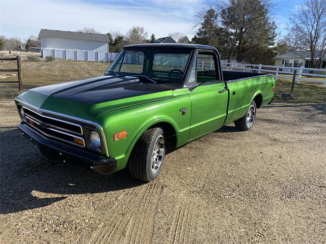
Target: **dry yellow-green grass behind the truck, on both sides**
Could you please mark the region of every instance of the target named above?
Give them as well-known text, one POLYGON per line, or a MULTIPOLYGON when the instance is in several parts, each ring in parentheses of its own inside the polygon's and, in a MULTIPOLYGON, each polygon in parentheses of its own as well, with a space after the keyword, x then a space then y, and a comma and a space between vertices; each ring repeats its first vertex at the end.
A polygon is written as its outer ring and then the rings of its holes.
MULTIPOLYGON (((33 87, 55 84, 69 80, 87 79, 104 74, 110 66, 109 63, 86 62, 75 60, 55 59, 53 62, 46 62, 44 59, 38 62, 22 61, 23 90, 33 87)), ((0 69, 15 69, 16 62, 2 61, 0 69)), ((0 75, 10 72, 0 72, 0 75)), ((16 77, 0 79, 0 81, 17 80, 16 77)), ((278 79, 276 85, 277 93, 290 92, 291 80, 278 79)), ((0 83, 0 98, 14 99, 18 92, 18 84, 0 83)), ((301 81, 301 84, 294 86, 294 100, 289 103, 325 103, 326 88, 323 83, 301 81)), ((276 99, 276 101, 281 101, 276 99)), ((283 101, 284 102, 284 101, 283 101)))

